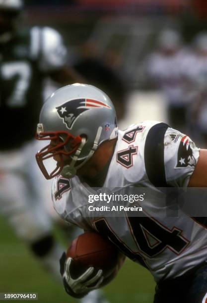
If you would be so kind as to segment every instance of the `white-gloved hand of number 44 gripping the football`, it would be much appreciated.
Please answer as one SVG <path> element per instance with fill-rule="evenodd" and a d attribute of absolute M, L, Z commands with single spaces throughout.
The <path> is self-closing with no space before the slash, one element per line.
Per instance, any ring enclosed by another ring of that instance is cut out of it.
<path fill-rule="evenodd" d="M 74 298 L 82 298 L 90 291 L 97 289 L 103 282 L 103 270 L 88 267 L 79 276 L 71 274 L 73 259 L 63 253 L 60 258 L 60 271 L 66 292 Z"/>

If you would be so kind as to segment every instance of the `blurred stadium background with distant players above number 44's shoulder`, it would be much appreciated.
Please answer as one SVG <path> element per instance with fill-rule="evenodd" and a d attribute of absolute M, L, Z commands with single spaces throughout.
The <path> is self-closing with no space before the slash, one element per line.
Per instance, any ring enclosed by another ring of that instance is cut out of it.
<path fill-rule="evenodd" d="M 25 8 L 27 26 L 62 34 L 67 63 L 117 103 L 121 128 L 158 119 L 207 145 L 204 0 L 30 0 Z"/>

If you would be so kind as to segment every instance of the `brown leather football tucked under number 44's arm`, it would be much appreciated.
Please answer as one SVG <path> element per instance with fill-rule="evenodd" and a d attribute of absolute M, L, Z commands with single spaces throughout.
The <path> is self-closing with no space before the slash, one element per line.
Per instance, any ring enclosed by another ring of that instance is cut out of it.
<path fill-rule="evenodd" d="M 105 277 L 114 271 L 118 254 L 115 245 L 95 232 L 85 232 L 75 238 L 67 251 L 67 257 L 74 260 L 75 273 L 88 266 L 94 266 L 102 269 Z"/>

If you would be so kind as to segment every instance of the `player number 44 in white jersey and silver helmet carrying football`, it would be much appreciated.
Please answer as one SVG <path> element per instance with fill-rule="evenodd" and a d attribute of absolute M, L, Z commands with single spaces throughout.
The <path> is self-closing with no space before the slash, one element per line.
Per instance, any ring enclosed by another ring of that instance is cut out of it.
<path fill-rule="evenodd" d="M 150 270 L 157 282 L 154 303 L 203 303 L 207 298 L 207 230 L 187 214 L 163 216 L 163 203 L 146 199 L 142 216 L 91 215 L 88 195 L 96 188 L 206 187 L 207 150 L 165 123 L 144 121 L 117 128 L 109 97 L 84 84 L 65 86 L 51 95 L 40 113 L 36 138 L 48 140 L 37 152 L 46 179 L 54 178 L 54 207 L 67 222 L 106 236 L 123 253 L 111 276 L 90 266 L 79 276 L 73 260 L 60 260 L 64 287 L 81 298 L 113 279 L 125 256 Z M 48 171 L 45 161 L 57 166 Z M 93 206 L 100 206 L 94 201 Z M 139 202 L 140 203 L 140 202 Z M 145 211 L 145 209 L 147 211 Z M 154 215 L 156 213 L 156 216 Z"/>

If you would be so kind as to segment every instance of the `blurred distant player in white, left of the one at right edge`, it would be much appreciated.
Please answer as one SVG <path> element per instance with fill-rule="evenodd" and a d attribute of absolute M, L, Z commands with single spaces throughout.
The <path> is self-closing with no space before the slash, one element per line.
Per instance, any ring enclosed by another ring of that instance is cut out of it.
<path fill-rule="evenodd" d="M 158 36 L 156 50 L 146 60 L 148 79 L 162 91 L 166 100 L 170 125 L 182 131 L 186 130 L 190 102 L 183 75 L 188 57 L 189 51 L 184 48 L 179 32 L 165 29 Z"/>

